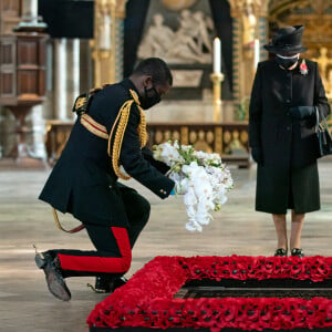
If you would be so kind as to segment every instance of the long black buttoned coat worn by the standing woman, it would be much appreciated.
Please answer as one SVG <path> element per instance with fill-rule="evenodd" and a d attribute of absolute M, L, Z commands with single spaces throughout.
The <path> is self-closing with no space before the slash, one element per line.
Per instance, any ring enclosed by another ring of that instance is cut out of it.
<path fill-rule="evenodd" d="M 300 214 L 320 208 L 315 117 L 299 121 L 289 113 L 292 106 L 312 105 L 318 106 L 320 116 L 330 113 L 318 64 L 305 62 L 305 75 L 299 65 L 286 71 L 273 59 L 257 69 L 249 106 L 249 145 L 262 151 L 256 196 L 260 211 L 286 214 L 292 207 Z"/>

